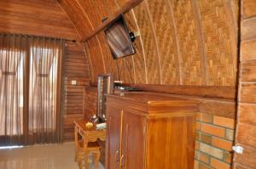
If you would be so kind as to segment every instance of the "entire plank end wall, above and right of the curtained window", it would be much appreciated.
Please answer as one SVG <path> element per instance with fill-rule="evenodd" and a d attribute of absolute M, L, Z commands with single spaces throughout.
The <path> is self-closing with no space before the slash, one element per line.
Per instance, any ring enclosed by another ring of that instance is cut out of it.
<path fill-rule="evenodd" d="M 1 0 L 0 31 L 79 40 L 79 33 L 55 0 Z M 89 65 L 81 44 L 67 42 L 62 75 L 63 141 L 73 140 L 73 120 L 84 118 Z M 71 81 L 77 81 L 76 86 Z"/>

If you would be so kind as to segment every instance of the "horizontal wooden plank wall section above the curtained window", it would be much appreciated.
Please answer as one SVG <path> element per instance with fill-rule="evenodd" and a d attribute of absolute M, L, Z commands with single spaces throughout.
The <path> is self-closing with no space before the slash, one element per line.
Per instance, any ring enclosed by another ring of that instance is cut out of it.
<path fill-rule="evenodd" d="M 73 23 L 55 0 L 1 0 L 0 31 L 79 39 Z"/>

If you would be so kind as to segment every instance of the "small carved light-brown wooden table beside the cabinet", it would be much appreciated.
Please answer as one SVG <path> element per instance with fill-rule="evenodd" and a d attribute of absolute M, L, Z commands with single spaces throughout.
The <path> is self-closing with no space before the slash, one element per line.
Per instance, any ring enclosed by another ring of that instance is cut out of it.
<path fill-rule="evenodd" d="M 95 123 L 93 124 L 93 127 L 87 128 L 85 126 L 86 122 L 88 122 L 88 120 L 74 121 L 76 151 L 79 149 L 79 138 L 78 137 L 80 135 L 83 139 L 83 144 L 84 144 L 84 156 L 88 155 L 88 150 L 90 150 L 90 149 L 88 149 L 88 143 L 96 142 L 97 139 L 101 139 L 102 141 L 106 140 L 106 129 L 97 130 Z M 77 152 L 76 152 L 76 155 L 77 155 Z M 76 160 L 77 160 L 77 156 L 76 156 Z M 88 165 L 87 158 L 84 158 L 84 163 L 86 166 Z"/>

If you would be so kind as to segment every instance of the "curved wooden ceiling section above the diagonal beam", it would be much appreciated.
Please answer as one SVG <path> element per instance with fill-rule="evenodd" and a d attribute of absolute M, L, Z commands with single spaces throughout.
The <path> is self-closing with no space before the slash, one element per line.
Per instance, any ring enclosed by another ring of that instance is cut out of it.
<path fill-rule="evenodd" d="M 119 5 L 125 3 L 115 0 L 58 0 L 58 2 L 73 21 L 81 38 L 100 25 L 102 19 L 113 14 Z"/>

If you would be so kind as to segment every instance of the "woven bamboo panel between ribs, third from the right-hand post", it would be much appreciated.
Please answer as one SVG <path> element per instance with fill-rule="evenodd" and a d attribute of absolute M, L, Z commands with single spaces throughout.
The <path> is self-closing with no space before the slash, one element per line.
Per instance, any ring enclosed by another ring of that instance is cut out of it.
<path fill-rule="evenodd" d="M 160 65 L 163 84 L 178 84 L 177 48 L 172 35 L 171 14 L 167 14 L 165 0 L 148 0 L 149 12 L 160 50 Z M 169 11 L 170 12 L 170 11 Z"/>

